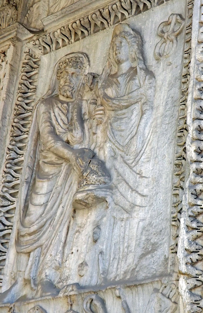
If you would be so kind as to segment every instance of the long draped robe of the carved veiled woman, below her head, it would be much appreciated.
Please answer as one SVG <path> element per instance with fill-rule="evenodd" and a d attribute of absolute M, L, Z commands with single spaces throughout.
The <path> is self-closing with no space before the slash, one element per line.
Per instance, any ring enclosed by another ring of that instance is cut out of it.
<path fill-rule="evenodd" d="M 141 82 L 137 68 L 131 67 L 119 79 L 109 75 L 98 92 L 105 117 L 95 151 L 105 161 L 113 186 L 103 248 L 108 281 L 135 279 L 140 255 L 147 255 L 138 237 L 150 204 L 151 179 L 145 165 L 150 157 L 154 85 L 147 70 Z"/>

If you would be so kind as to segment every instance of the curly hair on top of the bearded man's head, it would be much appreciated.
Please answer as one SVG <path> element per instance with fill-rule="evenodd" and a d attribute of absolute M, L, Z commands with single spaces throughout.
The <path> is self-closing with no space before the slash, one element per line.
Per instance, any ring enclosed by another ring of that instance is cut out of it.
<path fill-rule="evenodd" d="M 57 70 L 57 78 L 60 79 L 62 72 L 65 70 L 66 67 L 81 69 L 83 73 L 85 70 L 85 63 L 82 57 L 74 56 L 71 58 L 65 59 L 63 62 L 60 62 L 58 70 Z"/>

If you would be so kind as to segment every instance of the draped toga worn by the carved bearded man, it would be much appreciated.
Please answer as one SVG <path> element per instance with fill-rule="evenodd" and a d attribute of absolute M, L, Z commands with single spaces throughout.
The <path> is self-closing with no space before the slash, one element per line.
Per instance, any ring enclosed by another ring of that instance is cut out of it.
<path fill-rule="evenodd" d="M 40 279 L 45 275 L 56 283 L 60 276 L 78 175 L 72 165 L 51 152 L 51 148 L 60 142 L 73 146 L 77 140 L 72 134 L 72 117 L 67 103 L 51 97 L 42 100 L 34 118 L 39 137 L 25 200 L 23 191 L 21 194 L 17 251 L 31 252 L 25 276 L 31 281 L 33 279 L 34 284 L 37 284 L 37 276 Z"/>

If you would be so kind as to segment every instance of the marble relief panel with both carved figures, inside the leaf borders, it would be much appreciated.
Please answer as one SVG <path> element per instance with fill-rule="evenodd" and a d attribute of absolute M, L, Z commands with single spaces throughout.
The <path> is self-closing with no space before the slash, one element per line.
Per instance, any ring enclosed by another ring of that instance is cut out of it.
<path fill-rule="evenodd" d="M 165 8 L 41 56 L 1 302 L 171 274 L 186 5 Z M 176 287 L 160 288 L 147 293 L 142 312 L 175 312 Z M 94 312 L 94 301 L 111 312 L 92 297 L 84 312 Z M 116 297 L 132 311 L 122 289 Z"/>

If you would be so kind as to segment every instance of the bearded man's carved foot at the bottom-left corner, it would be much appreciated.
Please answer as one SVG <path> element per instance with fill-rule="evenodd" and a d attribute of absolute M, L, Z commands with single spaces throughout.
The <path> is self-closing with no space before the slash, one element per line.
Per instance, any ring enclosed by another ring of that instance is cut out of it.
<path fill-rule="evenodd" d="M 8 290 L 1 293 L 0 303 L 14 303 L 22 296 L 26 296 L 23 294 L 23 291 L 26 290 L 25 285 L 24 278 L 19 277 Z"/>

